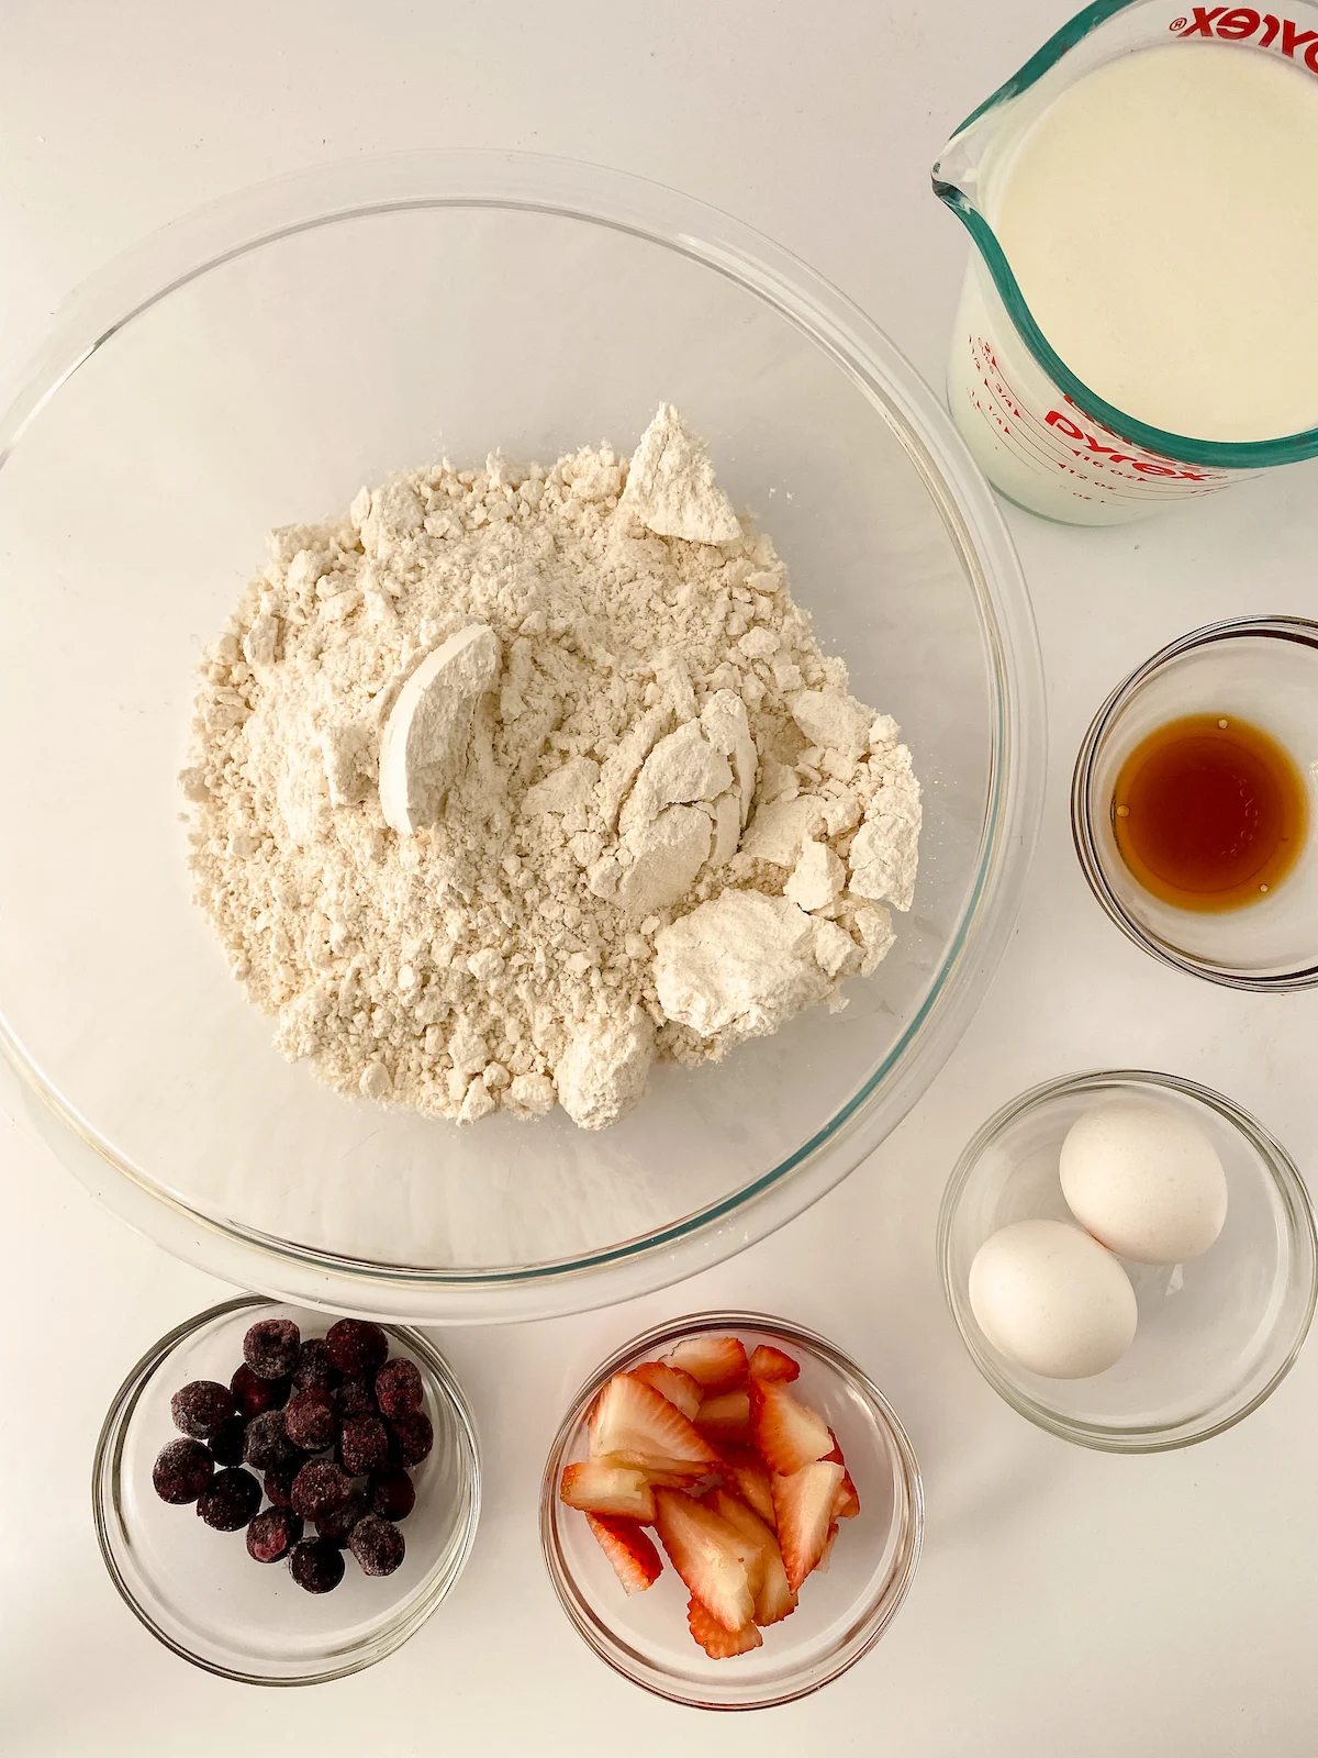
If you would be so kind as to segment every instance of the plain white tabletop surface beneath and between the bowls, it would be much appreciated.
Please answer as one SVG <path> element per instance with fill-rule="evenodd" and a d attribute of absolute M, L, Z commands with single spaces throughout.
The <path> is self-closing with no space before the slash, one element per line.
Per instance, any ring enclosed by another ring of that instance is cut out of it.
<path fill-rule="evenodd" d="M 928 167 L 1067 11 L 7 0 L 0 376 L 84 274 L 199 202 L 346 155 L 517 146 L 731 209 L 838 281 L 938 381 L 965 244 Z M 1302 469 L 1100 533 L 1009 515 L 1053 756 L 1019 928 L 979 1018 L 903 1127 L 777 1238 L 627 1308 L 441 1340 L 476 1408 L 487 1514 L 453 1598 L 364 1675 L 315 1691 L 227 1684 L 119 1603 L 88 1505 L 100 1419 L 132 1361 L 228 1290 L 100 1213 L 0 1074 L 4 1758 L 1313 1754 L 1314 1350 L 1206 1447 L 1081 1452 L 972 1369 L 940 1301 L 933 1222 L 979 1122 L 1077 1067 L 1220 1086 L 1314 1164 L 1318 995 L 1249 999 L 1156 967 L 1100 916 L 1067 828 L 1075 745 L 1132 665 L 1220 615 L 1318 615 L 1314 487 Z M 569 1391 L 643 1326 L 724 1303 L 778 1310 L 858 1355 L 903 1415 L 928 1489 L 924 1563 L 889 1635 L 824 1695 L 770 1716 L 701 1716 L 613 1677 L 562 1619 L 536 1542 L 543 1449 Z"/>

